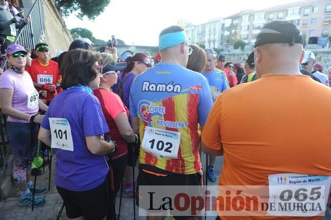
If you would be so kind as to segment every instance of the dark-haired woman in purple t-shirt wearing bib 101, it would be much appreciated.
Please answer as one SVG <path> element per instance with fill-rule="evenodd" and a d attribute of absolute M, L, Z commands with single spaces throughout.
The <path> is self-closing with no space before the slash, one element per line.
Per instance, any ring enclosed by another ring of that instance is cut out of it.
<path fill-rule="evenodd" d="M 108 207 L 107 154 L 115 145 L 101 136 L 109 132 L 92 89 L 100 84 L 100 53 L 69 50 L 61 61 L 64 89 L 52 99 L 39 139 L 56 148 L 55 185 L 68 218 L 101 220 Z"/>

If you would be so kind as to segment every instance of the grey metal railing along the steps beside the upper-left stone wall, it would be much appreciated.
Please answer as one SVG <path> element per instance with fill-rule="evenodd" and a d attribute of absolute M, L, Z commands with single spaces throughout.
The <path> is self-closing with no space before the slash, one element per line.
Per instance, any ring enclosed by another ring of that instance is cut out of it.
<path fill-rule="evenodd" d="M 41 0 L 36 0 L 27 16 L 30 17 L 30 22 L 18 32 L 14 44 L 32 49 L 40 42 L 45 30 L 44 6 Z M 6 64 L 7 59 L 4 60 L 1 68 L 6 69 Z"/>

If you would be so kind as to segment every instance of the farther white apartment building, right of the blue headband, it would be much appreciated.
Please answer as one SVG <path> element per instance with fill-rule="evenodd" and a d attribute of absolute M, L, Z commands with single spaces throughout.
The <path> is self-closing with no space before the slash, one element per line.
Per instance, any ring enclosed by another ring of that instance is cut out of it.
<path fill-rule="evenodd" d="M 186 34 L 193 44 L 205 48 L 224 48 L 224 19 L 216 18 L 203 24 L 185 26 Z"/>

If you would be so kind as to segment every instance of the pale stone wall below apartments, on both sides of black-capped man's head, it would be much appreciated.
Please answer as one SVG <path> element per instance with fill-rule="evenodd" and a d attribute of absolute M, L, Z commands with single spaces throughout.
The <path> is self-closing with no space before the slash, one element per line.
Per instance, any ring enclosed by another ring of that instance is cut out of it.
<path fill-rule="evenodd" d="M 317 64 L 321 64 L 324 67 L 324 72 L 331 67 L 331 50 L 311 50 L 316 56 Z M 240 62 L 245 64 L 245 58 L 249 55 L 248 52 L 233 52 L 233 53 L 224 53 L 227 60 L 234 62 Z"/>

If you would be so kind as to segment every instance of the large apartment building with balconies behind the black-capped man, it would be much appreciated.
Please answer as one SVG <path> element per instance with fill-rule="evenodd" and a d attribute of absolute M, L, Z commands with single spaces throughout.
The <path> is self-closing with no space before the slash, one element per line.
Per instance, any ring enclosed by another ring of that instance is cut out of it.
<path fill-rule="evenodd" d="M 224 45 L 231 48 L 241 39 L 253 45 L 262 26 L 273 20 L 292 21 L 306 41 L 331 35 L 331 0 L 305 0 L 263 10 L 246 10 L 225 18 Z"/>

